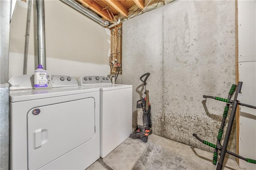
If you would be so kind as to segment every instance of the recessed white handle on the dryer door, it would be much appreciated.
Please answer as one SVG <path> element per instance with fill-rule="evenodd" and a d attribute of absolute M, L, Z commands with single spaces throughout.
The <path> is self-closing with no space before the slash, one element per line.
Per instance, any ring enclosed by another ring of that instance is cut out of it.
<path fill-rule="evenodd" d="M 41 128 L 34 130 L 33 140 L 34 149 L 40 148 L 42 144 L 48 142 L 48 130 Z"/>

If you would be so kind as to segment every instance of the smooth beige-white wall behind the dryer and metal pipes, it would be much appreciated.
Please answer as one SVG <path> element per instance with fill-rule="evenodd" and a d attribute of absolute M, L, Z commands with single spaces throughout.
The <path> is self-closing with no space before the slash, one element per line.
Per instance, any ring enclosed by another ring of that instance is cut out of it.
<path fill-rule="evenodd" d="M 106 76 L 110 31 L 58 0 L 45 0 L 46 65 L 51 74 Z M 33 5 L 32 5 L 33 7 Z M 28 3 L 17 1 L 10 23 L 9 78 L 23 73 Z M 34 73 L 33 9 L 27 74 Z"/>

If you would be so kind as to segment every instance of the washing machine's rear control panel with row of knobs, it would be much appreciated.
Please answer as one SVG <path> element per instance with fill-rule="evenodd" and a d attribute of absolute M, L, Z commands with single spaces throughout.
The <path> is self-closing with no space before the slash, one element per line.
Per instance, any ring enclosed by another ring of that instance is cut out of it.
<path fill-rule="evenodd" d="M 78 85 L 98 85 L 98 84 L 111 84 L 108 77 L 104 76 L 83 76 L 78 79 Z"/>

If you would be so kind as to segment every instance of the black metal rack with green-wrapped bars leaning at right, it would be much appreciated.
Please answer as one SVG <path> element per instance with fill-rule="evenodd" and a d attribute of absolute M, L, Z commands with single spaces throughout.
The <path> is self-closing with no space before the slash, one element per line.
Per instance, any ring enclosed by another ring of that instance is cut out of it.
<path fill-rule="evenodd" d="M 202 143 L 204 143 L 208 146 L 211 146 L 212 148 L 215 148 L 214 153 L 213 153 L 212 163 L 214 165 L 216 165 L 216 170 L 222 170 L 222 166 L 223 166 L 223 162 L 224 162 L 224 158 L 225 158 L 226 153 L 228 153 L 230 155 L 233 155 L 233 156 L 236 156 L 237 158 L 240 158 L 242 160 L 245 160 L 246 162 L 256 164 L 256 160 L 249 159 L 249 158 L 244 158 L 244 157 L 242 157 L 238 154 L 235 154 L 235 153 L 230 152 L 230 151 L 227 150 L 228 140 L 229 140 L 229 137 L 230 137 L 230 132 L 231 132 L 231 129 L 232 129 L 234 117 L 236 115 L 237 105 L 246 106 L 246 107 L 256 109 L 255 106 L 247 105 L 247 104 L 239 102 L 239 101 L 241 101 L 241 97 L 242 97 L 242 94 L 241 94 L 242 84 L 243 83 L 239 81 L 237 86 L 235 84 L 232 85 L 232 87 L 231 87 L 231 89 L 228 93 L 228 99 L 224 99 L 224 98 L 221 98 L 221 97 L 214 97 L 214 96 L 206 96 L 206 95 L 203 96 L 204 98 L 211 98 L 211 99 L 215 99 L 215 100 L 218 100 L 218 101 L 226 102 L 226 106 L 224 108 L 224 113 L 223 113 L 223 117 L 222 117 L 220 130 L 218 132 L 216 144 L 212 144 L 212 143 L 210 143 L 206 140 L 202 140 L 197 136 L 197 134 L 193 133 L 193 136 L 196 137 L 200 142 L 202 142 Z M 236 93 L 234 94 L 235 91 L 236 91 Z M 231 97 L 232 97 L 233 94 L 234 94 L 234 100 L 231 100 Z M 226 118 L 228 116 L 228 110 L 229 110 L 230 105 L 232 105 L 232 111 L 230 113 L 228 127 L 226 129 L 226 134 L 225 134 L 223 145 L 222 145 L 220 143 L 220 140 L 222 139 L 224 126 L 226 125 Z M 218 160 L 218 151 L 220 151 L 219 160 Z"/>

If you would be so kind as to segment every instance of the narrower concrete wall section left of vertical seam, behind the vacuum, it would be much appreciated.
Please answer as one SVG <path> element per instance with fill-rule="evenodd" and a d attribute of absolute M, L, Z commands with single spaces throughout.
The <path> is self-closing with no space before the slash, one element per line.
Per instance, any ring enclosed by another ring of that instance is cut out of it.
<path fill-rule="evenodd" d="M 149 72 L 147 80 L 152 108 L 153 131 L 162 131 L 163 73 L 163 8 L 137 16 L 123 23 L 122 84 L 133 85 L 133 126 L 136 126 L 136 102 L 142 97 L 140 76 Z"/>

